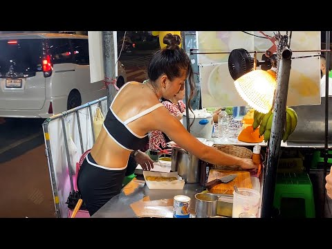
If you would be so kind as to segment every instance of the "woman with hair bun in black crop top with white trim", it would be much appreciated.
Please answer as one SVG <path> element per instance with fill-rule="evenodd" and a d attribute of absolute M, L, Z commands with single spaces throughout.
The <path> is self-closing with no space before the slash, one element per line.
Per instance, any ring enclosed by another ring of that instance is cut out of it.
<path fill-rule="evenodd" d="M 102 130 L 80 167 L 77 187 L 90 215 L 120 193 L 129 156 L 135 156 L 136 150 L 147 144 L 147 133 L 152 130 L 163 131 L 178 146 L 208 163 L 256 168 L 251 159 L 230 156 L 199 142 L 159 102 L 160 98 L 169 99 L 183 91 L 187 78 L 190 99 L 194 93 L 190 59 L 178 46 L 181 38 L 168 34 L 164 43 L 167 46 L 149 62 L 149 82 L 127 82 L 118 91 Z M 145 170 L 151 167 L 141 166 Z"/>

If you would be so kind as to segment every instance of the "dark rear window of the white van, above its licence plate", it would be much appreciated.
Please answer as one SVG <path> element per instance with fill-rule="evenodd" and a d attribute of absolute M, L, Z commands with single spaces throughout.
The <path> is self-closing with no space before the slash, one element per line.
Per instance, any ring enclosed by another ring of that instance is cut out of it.
<path fill-rule="evenodd" d="M 0 40 L 0 77 L 28 77 L 42 71 L 42 40 Z"/>

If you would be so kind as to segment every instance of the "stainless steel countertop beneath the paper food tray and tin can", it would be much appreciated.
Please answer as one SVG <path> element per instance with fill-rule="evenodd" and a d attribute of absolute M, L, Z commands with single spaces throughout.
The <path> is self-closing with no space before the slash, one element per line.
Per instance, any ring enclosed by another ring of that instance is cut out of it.
<path fill-rule="evenodd" d="M 190 196 L 190 214 L 195 214 L 195 194 L 202 192 L 199 183 L 185 183 L 183 190 L 149 190 L 145 181 L 133 179 L 107 202 L 92 218 L 173 217 L 173 197 Z"/>

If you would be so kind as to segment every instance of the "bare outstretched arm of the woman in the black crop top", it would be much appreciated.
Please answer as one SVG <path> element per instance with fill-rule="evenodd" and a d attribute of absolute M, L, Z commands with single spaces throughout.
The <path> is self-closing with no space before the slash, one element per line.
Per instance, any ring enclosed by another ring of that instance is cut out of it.
<path fill-rule="evenodd" d="M 204 145 L 192 136 L 174 116 L 167 113 L 167 109 L 160 109 L 158 117 L 156 119 L 158 129 L 166 133 L 178 146 L 201 160 L 212 164 L 238 165 L 243 169 L 257 169 L 257 165 L 252 163 L 251 159 L 225 154 L 219 149 Z"/>

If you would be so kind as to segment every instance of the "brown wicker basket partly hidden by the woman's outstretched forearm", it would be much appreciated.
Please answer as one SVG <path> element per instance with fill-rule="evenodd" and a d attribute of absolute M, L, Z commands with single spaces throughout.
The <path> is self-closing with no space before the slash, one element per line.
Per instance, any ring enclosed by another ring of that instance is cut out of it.
<path fill-rule="evenodd" d="M 252 158 L 252 151 L 245 147 L 239 147 L 236 145 L 213 145 L 212 147 L 239 158 Z M 242 170 L 242 168 L 237 165 L 213 165 L 212 169 Z"/>

